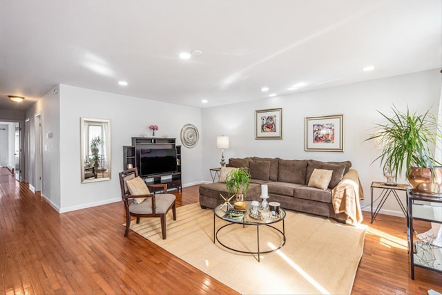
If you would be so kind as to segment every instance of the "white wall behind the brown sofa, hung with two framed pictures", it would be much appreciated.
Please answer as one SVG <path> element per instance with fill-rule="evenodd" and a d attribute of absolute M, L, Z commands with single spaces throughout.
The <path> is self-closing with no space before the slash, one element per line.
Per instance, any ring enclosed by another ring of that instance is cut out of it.
<path fill-rule="evenodd" d="M 372 142 L 364 142 L 374 123 L 382 122 L 376 110 L 391 113 L 392 105 L 399 110 L 418 113 L 432 107 L 436 114 L 441 95 L 439 69 L 412 73 L 385 79 L 376 79 L 318 91 L 294 93 L 254 102 L 231 104 L 202 110 L 203 153 L 202 175 L 210 181 L 209 169 L 220 166 L 221 151 L 216 149 L 216 136 L 229 135 L 231 148 L 224 150 L 225 158 L 246 156 L 280 157 L 285 159 L 315 159 L 323 161 L 351 160 L 358 170 L 369 210 L 370 184 L 385 181 L 379 163 L 371 162 L 379 151 Z M 256 110 L 282 108 L 282 140 L 255 140 L 254 116 Z M 344 115 L 344 152 L 304 151 L 305 117 Z M 398 182 L 406 183 L 405 178 Z M 405 203 L 405 193 L 399 193 Z M 394 198 L 389 198 L 382 213 L 403 216 Z"/>

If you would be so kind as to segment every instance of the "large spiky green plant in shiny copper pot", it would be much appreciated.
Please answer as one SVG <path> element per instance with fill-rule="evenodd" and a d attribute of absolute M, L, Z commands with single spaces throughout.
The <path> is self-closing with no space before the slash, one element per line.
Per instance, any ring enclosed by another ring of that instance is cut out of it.
<path fill-rule="evenodd" d="M 403 175 L 407 178 L 414 191 L 442 196 L 442 167 L 434 157 L 437 153 L 436 141 L 442 138 L 441 126 L 437 118 L 429 111 L 421 115 L 406 113 L 392 107 L 393 115 L 389 117 L 380 113 L 385 122 L 376 124 L 376 133 L 367 140 L 376 140 L 381 146 L 381 155 L 376 160 L 381 161 L 383 171 L 397 180 Z"/>

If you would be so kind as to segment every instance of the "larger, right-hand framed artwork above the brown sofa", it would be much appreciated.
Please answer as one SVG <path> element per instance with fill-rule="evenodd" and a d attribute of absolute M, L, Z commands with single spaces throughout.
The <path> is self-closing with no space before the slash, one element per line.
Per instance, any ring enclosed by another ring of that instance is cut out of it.
<path fill-rule="evenodd" d="M 344 151 L 344 115 L 305 118 L 305 151 Z"/>

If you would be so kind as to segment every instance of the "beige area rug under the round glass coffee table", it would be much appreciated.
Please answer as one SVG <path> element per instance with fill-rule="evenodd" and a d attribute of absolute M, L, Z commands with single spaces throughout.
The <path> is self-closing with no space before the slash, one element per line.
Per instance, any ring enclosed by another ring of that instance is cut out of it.
<path fill-rule="evenodd" d="M 218 229 L 226 224 L 215 219 Z M 282 222 L 275 224 L 282 230 Z M 282 249 L 240 254 L 213 244 L 213 210 L 199 204 L 177 208 L 177 220 L 168 214 L 167 239 L 162 240 L 159 218 L 142 218 L 131 229 L 241 294 L 350 294 L 363 254 L 365 227 L 287 211 Z M 280 234 L 260 226 L 261 251 L 280 245 Z M 220 240 L 238 249 L 256 251 L 256 227 L 231 225 Z"/>

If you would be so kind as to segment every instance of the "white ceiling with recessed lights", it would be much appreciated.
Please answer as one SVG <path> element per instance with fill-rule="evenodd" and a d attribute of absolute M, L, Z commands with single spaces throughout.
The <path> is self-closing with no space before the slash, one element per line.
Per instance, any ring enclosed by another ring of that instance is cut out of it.
<path fill-rule="evenodd" d="M 0 0 L 0 108 L 57 84 L 204 108 L 441 68 L 441 56 L 442 0 Z"/>

